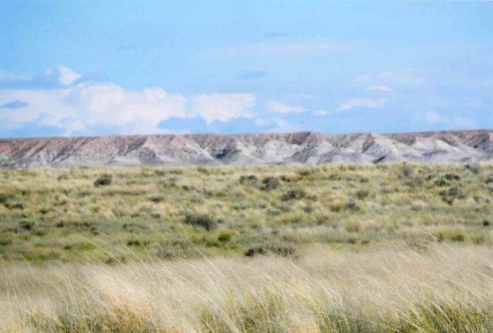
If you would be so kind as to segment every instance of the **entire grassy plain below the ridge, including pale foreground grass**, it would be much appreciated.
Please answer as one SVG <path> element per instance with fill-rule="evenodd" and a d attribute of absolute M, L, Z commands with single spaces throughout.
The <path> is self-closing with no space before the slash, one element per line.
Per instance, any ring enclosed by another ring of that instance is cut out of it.
<path fill-rule="evenodd" d="M 492 164 L 1 171 L 0 328 L 492 332 L 492 201 Z"/>

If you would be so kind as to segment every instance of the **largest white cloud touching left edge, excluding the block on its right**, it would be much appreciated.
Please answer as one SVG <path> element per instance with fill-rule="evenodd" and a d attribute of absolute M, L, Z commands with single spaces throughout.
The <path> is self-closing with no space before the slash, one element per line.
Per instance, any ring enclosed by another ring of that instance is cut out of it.
<path fill-rule="evenodd" d="M 186 116 L 186 99 L 160 88 L 129 90 L 114 84 L 79 84 L 49 90 L 0 90 L 6 98 L 28 101 L 23 112 L 1 114 L 21 126 L 27 122 L 62 127 L 66 135 L 90 126 L 115 128 L 121 134 L 151 134 L 170 116 Z M 135 128 L 134 128 L 135 127 Z"/>

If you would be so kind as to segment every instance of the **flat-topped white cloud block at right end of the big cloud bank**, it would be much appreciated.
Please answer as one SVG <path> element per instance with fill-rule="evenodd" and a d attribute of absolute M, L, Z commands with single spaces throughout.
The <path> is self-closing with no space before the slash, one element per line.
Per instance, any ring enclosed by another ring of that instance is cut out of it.
<path fill-rule="evenodd" d="M 229 121 L 244 116 L 252 118 L 255 114 L 255 96 L 251 94 L 210 94 L 192 97 L 192 112 L 202 116 L 207 123 L 214 120 Z"/>

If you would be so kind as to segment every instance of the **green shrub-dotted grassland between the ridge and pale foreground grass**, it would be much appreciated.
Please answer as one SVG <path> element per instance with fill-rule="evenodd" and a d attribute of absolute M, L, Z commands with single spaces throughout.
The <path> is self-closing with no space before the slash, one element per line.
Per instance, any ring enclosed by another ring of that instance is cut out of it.
<path fill-rule="evenodd" d="M 492 243 L 492 164 L 39 169 L 0 184 L 8 262 Z"/>

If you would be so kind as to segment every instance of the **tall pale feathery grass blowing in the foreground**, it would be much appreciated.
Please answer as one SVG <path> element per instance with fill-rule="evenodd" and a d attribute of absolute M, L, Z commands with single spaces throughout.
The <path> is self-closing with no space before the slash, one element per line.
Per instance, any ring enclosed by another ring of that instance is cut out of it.
<path fill-rule="evenodd" d="M 489 247 L 2 264 L 1 332 L 493 332 Z"/>

